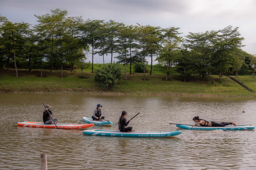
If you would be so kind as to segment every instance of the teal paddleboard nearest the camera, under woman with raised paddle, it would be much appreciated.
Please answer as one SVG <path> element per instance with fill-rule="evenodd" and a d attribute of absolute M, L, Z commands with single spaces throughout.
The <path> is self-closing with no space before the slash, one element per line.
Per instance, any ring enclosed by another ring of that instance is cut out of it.
<path fill-rule="evenodd" d="M 148 132 L 148 131 L 133 131 L 133 132 L 120 132 L 118 130 L 95 130 L 86 129 L 83 131 L 84 135 L 93 136 L 113 136 L 113 137 L 172 137 L 181 134 L 181 131 L 172 132 Z"/>

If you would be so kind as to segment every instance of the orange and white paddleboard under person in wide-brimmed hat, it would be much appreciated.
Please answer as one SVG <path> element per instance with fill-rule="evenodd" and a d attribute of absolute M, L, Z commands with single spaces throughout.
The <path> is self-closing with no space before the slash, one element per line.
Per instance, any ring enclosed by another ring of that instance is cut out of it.
<path fill-rule="evenodd" d="M 34 127 L 34 128 L 56 128 L 55 124 L 44 124 L 42 122 L 18 122 L 17 125 L 23 126 L 23 127 Z M 56 125 L 59 129 L 86 129 L 94 126 L 93 123 L 91 124 L 56 123 Z"/>

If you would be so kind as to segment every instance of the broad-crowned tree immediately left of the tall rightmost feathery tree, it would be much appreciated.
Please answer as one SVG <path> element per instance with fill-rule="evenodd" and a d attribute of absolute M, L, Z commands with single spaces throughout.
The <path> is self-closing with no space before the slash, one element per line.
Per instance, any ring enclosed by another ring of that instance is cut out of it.
<path fill-rule="evenodd" d="M 213 39 L 216 37 L 217 31 L 206 31 L 205 33 L 191 33 L 185 36 L 184 47 L 193 50 L 195 70 L 198 70 L 199 75 L 203 80 L 207 76 L 207 72 L 211 72 L 212 55 L 213 55 Z"/>

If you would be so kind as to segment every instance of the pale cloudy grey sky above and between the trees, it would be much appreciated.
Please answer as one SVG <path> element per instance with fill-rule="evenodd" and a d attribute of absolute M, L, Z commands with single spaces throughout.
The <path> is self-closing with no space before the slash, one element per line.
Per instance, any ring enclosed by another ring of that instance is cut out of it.
<path fill-rule="evenodd" d="M 37 24 L 34 15 L 41 16 L 56 8 L 67 10 L 68 16 L 83 16 L 84 20 L 111 19 L 126 25 L 180 27 L 182 36 L 188 32 L 238 26 L 241 37 L 245 38 L 243 45 L 246 46 L 242 49 L 256 54 L 255 0 L 0 0 L 2 16 L 12 22 L 32 25 Z M 104 57 L 105 62 L 110 62 L 110 57 Z M 87 58 L 92 61 L 91 55 Z M 97 62 L 103 63 L 101 56 L 94 57 L 94 63 Z"/>

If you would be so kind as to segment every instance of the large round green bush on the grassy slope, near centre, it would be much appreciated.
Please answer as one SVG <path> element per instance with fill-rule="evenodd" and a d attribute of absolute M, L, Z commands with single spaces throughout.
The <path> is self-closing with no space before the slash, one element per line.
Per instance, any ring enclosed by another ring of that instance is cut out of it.
<path fill-rule="evenodd" d="M 93 80 L 99 83 L 101 88 L 111 89 L 117 84 L 118 80 L 122 78 L 122 74 L 123 71 L 119 64 L 107 64 L 95 70 Z"/>

